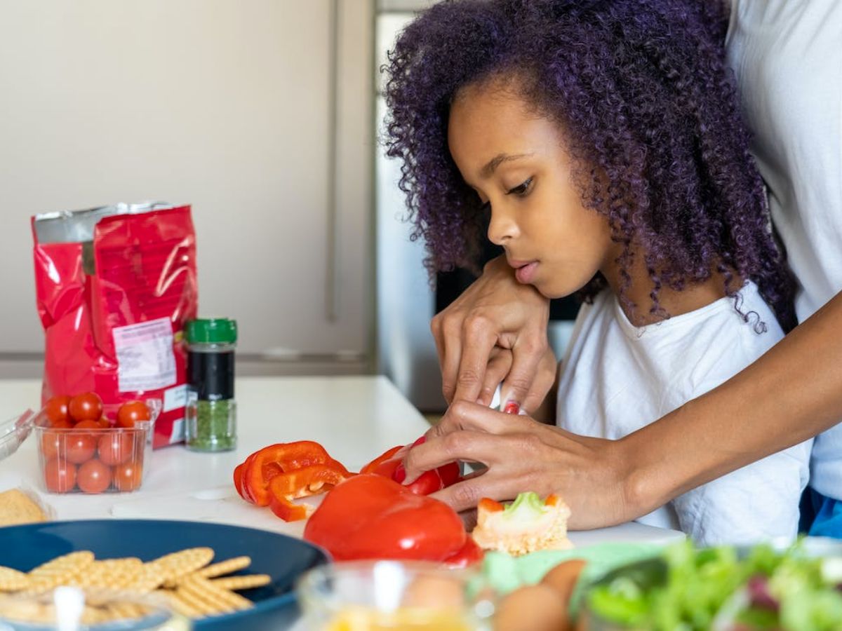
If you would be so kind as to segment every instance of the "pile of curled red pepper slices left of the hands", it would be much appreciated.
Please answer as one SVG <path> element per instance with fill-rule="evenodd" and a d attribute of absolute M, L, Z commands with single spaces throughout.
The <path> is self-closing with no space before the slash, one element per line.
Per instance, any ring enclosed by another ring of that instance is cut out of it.
<path fill-rule="evenodd" d="M 301 440 L 252 453 L 234 469 L 234 486 L 242 499 L 269 506 L 281 519 L 295 522 L 306 518 L 312 507 L 292 500 L 324 493 L 352 475 L 322 445 Z"/>

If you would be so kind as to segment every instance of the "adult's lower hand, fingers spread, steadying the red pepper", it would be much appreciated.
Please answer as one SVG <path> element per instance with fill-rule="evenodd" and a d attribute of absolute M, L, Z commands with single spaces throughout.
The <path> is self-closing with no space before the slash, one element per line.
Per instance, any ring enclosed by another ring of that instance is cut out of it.
<path fill-rule="evenodd" d="M 626 458 L 621 441 L 576 436 L 557 427 L 456 401 L 427 440 L 412 448 L 403 465 L 406 482 L 453 460 L 488 469 L 434 497 L 456 511 L 477 507 L 482 497 L 505 501 L 534 490 L 556 493 L 571 507 L 570 526 L 598 528 L 637 517 L 624 484 Z"/>

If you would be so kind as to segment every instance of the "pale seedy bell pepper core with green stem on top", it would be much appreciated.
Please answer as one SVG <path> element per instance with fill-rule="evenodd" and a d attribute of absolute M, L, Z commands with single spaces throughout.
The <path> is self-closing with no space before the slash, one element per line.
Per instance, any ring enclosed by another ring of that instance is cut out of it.
<path fill-rule="evenodd" d="M 536 550 L 568 549 L 570 509 L 558 496 L 541 500 L 535 492 L 520 493 L 509 504 L 483 497 L 477 506 L 473 538 L 483 549 L 513 556 Z"/>

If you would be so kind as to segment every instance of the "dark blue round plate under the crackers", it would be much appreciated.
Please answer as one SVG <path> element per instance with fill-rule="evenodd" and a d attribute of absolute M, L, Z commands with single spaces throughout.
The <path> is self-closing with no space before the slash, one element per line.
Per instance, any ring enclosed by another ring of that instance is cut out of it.
<path fill-rule="evenodd" d="M 149 561 L 196 546 L 214 549 L 216 560 L 246 554 L 252 558 L 252 565 L 237 574 L 272 577 L 267 586 L 242 591 L 254 602 L 253 608 L 195 623 L 195 628 L 208 631 L 290 626 L 298 615 L 292 591 L 296 579 L 302 572 L 328 562 L 321 549 L 306 541 L 266 530 L 207 522 L 96 519 L 0 528 L 0 565 L 28 571 L 74 550 L 90 550 L 97 559 L 136 556 Z"/>

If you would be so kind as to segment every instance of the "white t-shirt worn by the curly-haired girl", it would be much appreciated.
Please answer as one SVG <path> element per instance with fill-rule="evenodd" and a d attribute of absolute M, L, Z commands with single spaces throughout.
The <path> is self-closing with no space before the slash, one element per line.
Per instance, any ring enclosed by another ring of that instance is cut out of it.
<path fill-rule="evenodd" d="M 558 386 L 557 423 L 584 436 L 617 439 L 703 395 L 783 337 L 753 283 L 734 299 L 649 326 L 633 326 L 605 290 L 579 310 Z M 765 323 L 765 332 L 757 332 Z M 740 419 L 733 418 L 734 427 Z M 718 437 L 711 436 L 711 445 Z M 638 519 L 679 528 L 700 544 L 750 544 L 797 533 L 810 443 L 799 444 L 690 490 Z M 698 445 L 701 450 L 706 444 Z"/>

